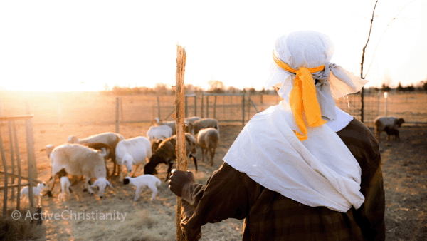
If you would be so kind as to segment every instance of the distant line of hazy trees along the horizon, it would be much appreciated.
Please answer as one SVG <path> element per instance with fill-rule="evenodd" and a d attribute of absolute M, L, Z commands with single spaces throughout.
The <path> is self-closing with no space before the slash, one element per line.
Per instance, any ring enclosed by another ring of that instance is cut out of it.
<path fill-rule="evenodd" d="M 184 93 L 185 94 L 193 94 L 193 93 L 249 93 L 251 95 L 256 94 L 268 94 L 268 93 L 275 93 L 274 90 L 261 90 L 257 91 L 255 88 L 243 88 L 239 89 L 233 86 L 225 87 L 221 81 L 209 81 L 210 88 L 208 90 L 205 90 L 201 88 L 200 86 L 194 86 L 192 84 L 186 84 L 184 85 Z M 410 85 L 410 86 L 401 86 L 401 83 L 396 88 L 391 88 L 389 85 L 383 83 L 381 88 L 365 88 L 366 91 L 369 92 L 376 92 L 376 91 L 394 91 L 394 92 L 411 92 L 411 91 L 418 91 L 418 92 L 424 92 L 427 91 L 427 79 L 426 81 L 421 81 L 416 86 Z M 114 86 L 112 89 L 108 88 L 107 85 L 105 85 L 105 90 L 101 91 L 101 93 L 104 93 L 106 95 L 114 95 L 114 96 L 127 96 L 127 95 L 139 95 L 139 94 L 156 94 L 156 95 L 174 95 L 175 94 L 175 88 L 174 86 L 169 86 L 164 83 L 157 83 L 154 88 L 149 87 L 120 87 L 120 86 Z"/>

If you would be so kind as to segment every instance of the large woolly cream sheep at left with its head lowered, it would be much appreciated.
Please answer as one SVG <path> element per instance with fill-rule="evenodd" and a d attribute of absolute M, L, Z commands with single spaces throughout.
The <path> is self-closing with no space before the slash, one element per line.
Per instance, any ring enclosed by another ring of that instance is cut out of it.
<path fill-rule="evenodd" d="M 96 186 L 99 188 L 98 196 L 104 196 L 105 188 L 111 187 L 110 182 L 105 178 L 107 168 L 105 168 L 104 156 L 107 153 L 104 150 L 94 150 L 80 144 L 63 144 L 54 148 L 51 153 L 52 177 L 48 182 L 48 195 L 51 196 L 51 190 L 55 183 L 55 177 L 58 173 L 65 175 L 84 175 L 85 190 L 93 194 L 90 186 L 90 178 L 95 178 Z"/>

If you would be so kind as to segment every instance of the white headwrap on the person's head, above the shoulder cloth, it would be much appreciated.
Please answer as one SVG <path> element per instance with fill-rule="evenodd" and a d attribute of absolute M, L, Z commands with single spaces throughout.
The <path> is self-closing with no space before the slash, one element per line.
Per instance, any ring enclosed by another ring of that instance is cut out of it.
<path fill-rule="evenodd" d="M 329 120 L 337 120 L 334 98 L 356 93 L 368 82 L 330 62 L 334 54 L 334 44 L 325 34 L 298 31 L 281 36 L 275 43 L 274 52 L 290 68 L 316 68 L 325 65 L 324 70 L 312 73 L 312 76 L 318 81 L 316 94 L 320 111 L 322 116 Z M 280 87 L 279 95 L 289 103 L 294 79 L 295 73 L 285 71 L 273 62 L 270 76 L 265 81 L 265 89 L 271 86 Z"/>

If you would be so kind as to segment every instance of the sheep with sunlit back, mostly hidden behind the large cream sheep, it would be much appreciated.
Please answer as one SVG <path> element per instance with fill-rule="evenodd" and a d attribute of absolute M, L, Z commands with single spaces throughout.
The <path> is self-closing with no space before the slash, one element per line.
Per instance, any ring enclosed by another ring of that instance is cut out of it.
<path fill-rule="evenodd" d="M 110 145 L 112 150 L 112 158 L 111 161 L 113 163 L 112 168 L 112 175 L 115 175 L 116 168 L 117 173 L 120 173 L 120 167 L 117 165 L 117 162 L 115 160 L 115 148 L 117 143 L 119 143 L 120 140 L 125 140 L 123 135 L 120 135 L 119 133 L 112 133 L 112 132 L 105 132 L 100 133 L 96 135 L 90 135 L 88 138 L 78 139 L 75 138 L 75 136 L 70 135 L 68 137 L 68 143 L 78 143 L 78 144 L 87 144 L 87 143 L 105 143 L 107 145 Z"/>

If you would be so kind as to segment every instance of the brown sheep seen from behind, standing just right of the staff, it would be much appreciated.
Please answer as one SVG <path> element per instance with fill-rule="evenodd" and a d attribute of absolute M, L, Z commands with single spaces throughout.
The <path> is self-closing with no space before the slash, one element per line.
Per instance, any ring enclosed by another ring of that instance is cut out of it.
<path fill-rule="evenodd" d="M 211 165 L 214 165 L 214 155 L 218 146 L 219 132 L 215 128 L 205 128 L 199 131 L 197 135 L 197 145 L 201 148 L 201 161 L 204 161 L 204 155 L 211 154 Z M 207 159 L 207 156 L 206 156 Z"/>

